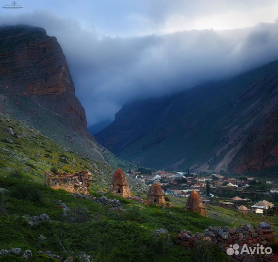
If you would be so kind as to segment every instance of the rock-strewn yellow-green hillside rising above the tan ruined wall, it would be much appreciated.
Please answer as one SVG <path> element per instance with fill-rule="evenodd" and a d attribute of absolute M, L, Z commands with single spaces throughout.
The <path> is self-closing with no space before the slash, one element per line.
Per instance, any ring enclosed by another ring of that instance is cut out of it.
<path fill-rule="evenodd" d="M 88 169 L 95 189 L 108 190 L 114 168 L 98 163 L 68 150 L 49 139 L 42 132 L 0 111 L 0 174 L 9 175 L 18 170 L 28 179 L 42 182 L 44 172 L 52 166 L 60 172 L 74 173 Z M 118 165 L 116 166 L 118 167 Z M 131 190 L 143 192 L 147 186 L 128 178 Z"/>

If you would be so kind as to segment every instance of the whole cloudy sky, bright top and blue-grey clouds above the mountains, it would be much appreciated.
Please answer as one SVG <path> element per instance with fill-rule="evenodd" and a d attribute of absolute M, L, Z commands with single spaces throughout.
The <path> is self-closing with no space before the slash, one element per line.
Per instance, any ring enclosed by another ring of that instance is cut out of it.
<path fill-rule="evenodd" d="M 1 5 L 11 4 L 1 0 Z M 134 98 L 230 78 L 278 59 L 277 0 L 18 0 L 0 25 L 60 43 L 88 124 Z"/>

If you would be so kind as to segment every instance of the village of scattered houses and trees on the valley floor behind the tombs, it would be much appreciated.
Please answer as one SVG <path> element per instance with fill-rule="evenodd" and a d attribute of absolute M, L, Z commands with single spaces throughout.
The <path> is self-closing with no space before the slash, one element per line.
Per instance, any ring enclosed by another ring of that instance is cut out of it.
<path fill-rule="evenodd" d="M 243 214 L 278 215 L 278 184 L 274 178 L 239 175 L 234 178 L 218 173 L 190 171 L 142 172 L 140 168 L 125 173 L 148 186 L 160 184 L 165 196 L 187 199 L 192 191 L 196 191 L 204 204 L 237 210 Z"/>

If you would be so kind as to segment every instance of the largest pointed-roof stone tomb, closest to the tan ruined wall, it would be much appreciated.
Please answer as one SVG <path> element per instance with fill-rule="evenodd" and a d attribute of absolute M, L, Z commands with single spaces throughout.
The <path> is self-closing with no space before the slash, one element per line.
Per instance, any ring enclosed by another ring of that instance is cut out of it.
<path fill-rule="evenodd" d="M 122 197 L 131 197 L 130 186 L 122 169 L 118 168 L 112 178 L 110 192 Z"/>

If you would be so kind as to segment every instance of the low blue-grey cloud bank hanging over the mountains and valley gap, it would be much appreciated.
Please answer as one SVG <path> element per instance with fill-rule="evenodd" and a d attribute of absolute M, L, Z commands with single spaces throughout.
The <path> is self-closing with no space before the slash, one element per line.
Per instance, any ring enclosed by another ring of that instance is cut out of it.
<path fill-rule="evenodd" d="M 252 28 L 109 37 L 47 12 L 2 16 L 0 24 L 44 27 L 67 58 L 89 124 L 133 98 L 160 96 L 231 77 L 278 58 L 277 23 Z"/>

